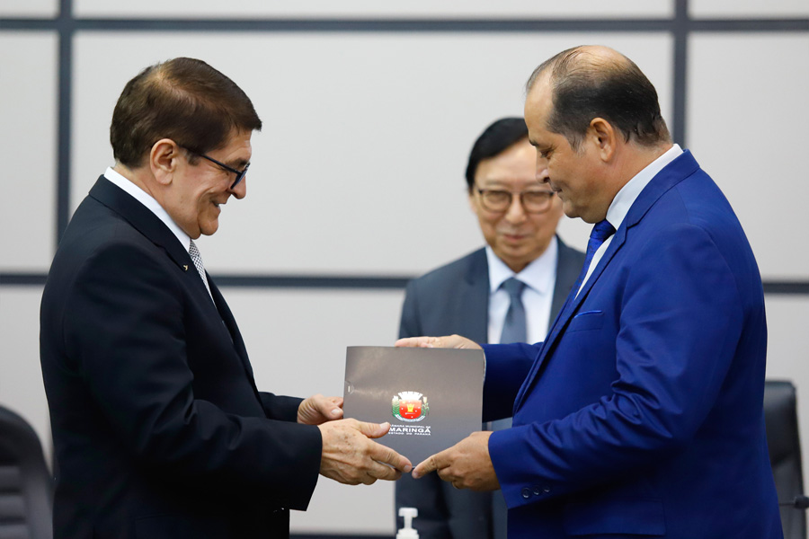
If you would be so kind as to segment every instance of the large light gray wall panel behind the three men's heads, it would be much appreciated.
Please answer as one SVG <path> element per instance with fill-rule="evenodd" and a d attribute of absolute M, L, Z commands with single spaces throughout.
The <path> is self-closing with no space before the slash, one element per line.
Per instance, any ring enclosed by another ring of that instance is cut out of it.
<path fill-rule="evenodd" d="M 231 200 L 218 234 L 200 242 L 207 267 L 422 272 L 481 243 L 463 180 L 477 135 L 497 117 L 521 115 L 523 84 L 542 59 L 591 41 L 635 57 L 670 113 L 664 33 L 81 32 L 71 204 L 111 163 L 109 121 L 124 82 L 158 59 L 202 57 L 244 87 L 265 121 L 253 137 L 248 197 Z M 582 245 L 587 232 L 571 228 Z"/>

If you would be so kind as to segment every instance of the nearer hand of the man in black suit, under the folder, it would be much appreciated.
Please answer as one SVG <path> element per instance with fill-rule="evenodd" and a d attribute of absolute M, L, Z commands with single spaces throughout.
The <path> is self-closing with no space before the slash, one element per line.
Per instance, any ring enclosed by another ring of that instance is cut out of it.
<path fill-rule="evenodd" d="M 399 479 L 403 472 L 413 469 L 404 456 L 369 439 L 385 436 L 390 423 L 340 420 L 317 428 L 323 436 L 320 473 L 324 477 L 349 485 L 369 485 L 378 479 Z"/>

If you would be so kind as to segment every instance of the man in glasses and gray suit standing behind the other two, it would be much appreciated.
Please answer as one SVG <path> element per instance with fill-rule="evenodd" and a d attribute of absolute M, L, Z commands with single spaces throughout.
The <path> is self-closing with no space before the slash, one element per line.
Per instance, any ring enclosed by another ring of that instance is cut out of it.
<path fill-rule="evenodd" d="M 478 137 L 467 164 L 467 192 L 488 245 L 410 282 L 400 338 L 457 333 L 481 343 L 499 343 L 503 335 L 508 340 L 511 302 L 503 287 L 516 278 L 524 283 L 520 338 L 545 339 L 582 270 L 584 253 L 556 236 L 562 203 L 538 181 L 536 160 L 521 118 L 499 119 Z M 405 475 L 396 482 L 400 507 L 419 509 L 422 539 L 506 536 L 499 491 L 456 490 L 436 474 L 419 481 Z"/>

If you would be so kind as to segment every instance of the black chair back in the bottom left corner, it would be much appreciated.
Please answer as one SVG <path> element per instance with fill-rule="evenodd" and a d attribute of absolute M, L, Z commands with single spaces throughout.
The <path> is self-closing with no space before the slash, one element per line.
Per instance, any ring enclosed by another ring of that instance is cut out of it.
<path fill-rule="evenodd" d="M 19 415 L 0 406 L 0 537 L 51 539 L 53 479 L 40 438 Z"/>

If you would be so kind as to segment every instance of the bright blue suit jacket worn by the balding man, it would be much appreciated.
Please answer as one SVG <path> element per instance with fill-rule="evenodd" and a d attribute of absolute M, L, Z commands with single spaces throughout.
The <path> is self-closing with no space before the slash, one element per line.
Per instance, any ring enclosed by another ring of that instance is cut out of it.
<path fill-rule="evenodd" d="M 781 537 L 759 270 L 686 152 L 641 192 L 537 345 L 485 346 L 511 537 Z M 532 358 L 529 372 L 525 359 Z"/>

